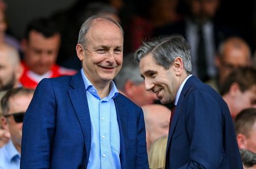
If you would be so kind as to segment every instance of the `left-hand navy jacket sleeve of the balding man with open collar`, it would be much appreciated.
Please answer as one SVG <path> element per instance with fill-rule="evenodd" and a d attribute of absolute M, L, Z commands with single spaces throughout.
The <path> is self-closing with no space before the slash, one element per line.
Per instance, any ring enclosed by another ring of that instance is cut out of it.
<path fill-rule="evenodd" d="M 55 135 L 55 95 L 49 79 L 43 79 L 25 113 L 20 168 L 50 168 Z"/>

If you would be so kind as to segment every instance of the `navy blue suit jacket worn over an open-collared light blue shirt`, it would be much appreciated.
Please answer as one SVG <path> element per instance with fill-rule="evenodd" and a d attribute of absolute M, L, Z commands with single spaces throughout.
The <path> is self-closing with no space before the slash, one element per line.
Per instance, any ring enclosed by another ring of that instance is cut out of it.
<path fill-rule="evenodd" d="M 121 167 L 148 168 L 143 111 L 125 96 L 114 98 Z M 86 168 L 91 125 L 81 72 L 43 79 L 23 121 L 20 168 Z"/>

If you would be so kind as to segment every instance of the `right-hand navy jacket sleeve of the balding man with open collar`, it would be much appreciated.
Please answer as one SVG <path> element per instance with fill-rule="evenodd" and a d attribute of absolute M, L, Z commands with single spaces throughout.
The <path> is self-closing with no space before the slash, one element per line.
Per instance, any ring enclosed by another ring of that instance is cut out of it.
<path fill-rule="evenodd" d="M 147 169 L 148 159 L 147 159 L 147 145 L 146 145 L 146 130 L 144 123 L 143 111 L 141 109 L 139 113 L 138 120 L 138 145 L 137 145 L 137 155 L 136 155 L 136 167 L 138 169 Z"/>

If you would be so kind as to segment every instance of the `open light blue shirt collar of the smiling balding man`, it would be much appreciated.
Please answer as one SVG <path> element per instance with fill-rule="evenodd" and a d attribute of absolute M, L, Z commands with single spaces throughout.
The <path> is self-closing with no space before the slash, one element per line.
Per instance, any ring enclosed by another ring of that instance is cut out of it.
<path fill-rule="evenodd" d="M 81 69 L 82 79 L 84 81 L 85 90 L 88 91 L 93 96 L 96 96 L 98 99 L 100 97 L 97 94 L 97 89 L 93 86 L 93 84 L 89 81 L 89 79 L 84 74 L 83 69 Z M 106 97 L 107 99 L 114 99 L 115 96 L 118 95 L 117 87 L 115 86 L 115 83 L 113 81 L 110 82 L 110 92 L 109 95 Z"/>

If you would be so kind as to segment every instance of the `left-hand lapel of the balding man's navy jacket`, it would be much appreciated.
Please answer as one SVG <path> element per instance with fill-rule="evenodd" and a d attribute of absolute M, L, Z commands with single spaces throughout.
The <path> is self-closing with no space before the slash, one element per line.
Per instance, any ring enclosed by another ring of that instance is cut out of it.
<path fill-rule="evenodd" d="M 88 162 L 91 143 L 90 113 L 81 72 L 77 73 L 72 77 L 70 85 L 72 88 L 68 91 L 68 94 L 71 98 L 71 102 L 73 104 L 77 118 L 79 119 L 82 128 L 82 134 L 85 141 L 86 158 Z"/>

